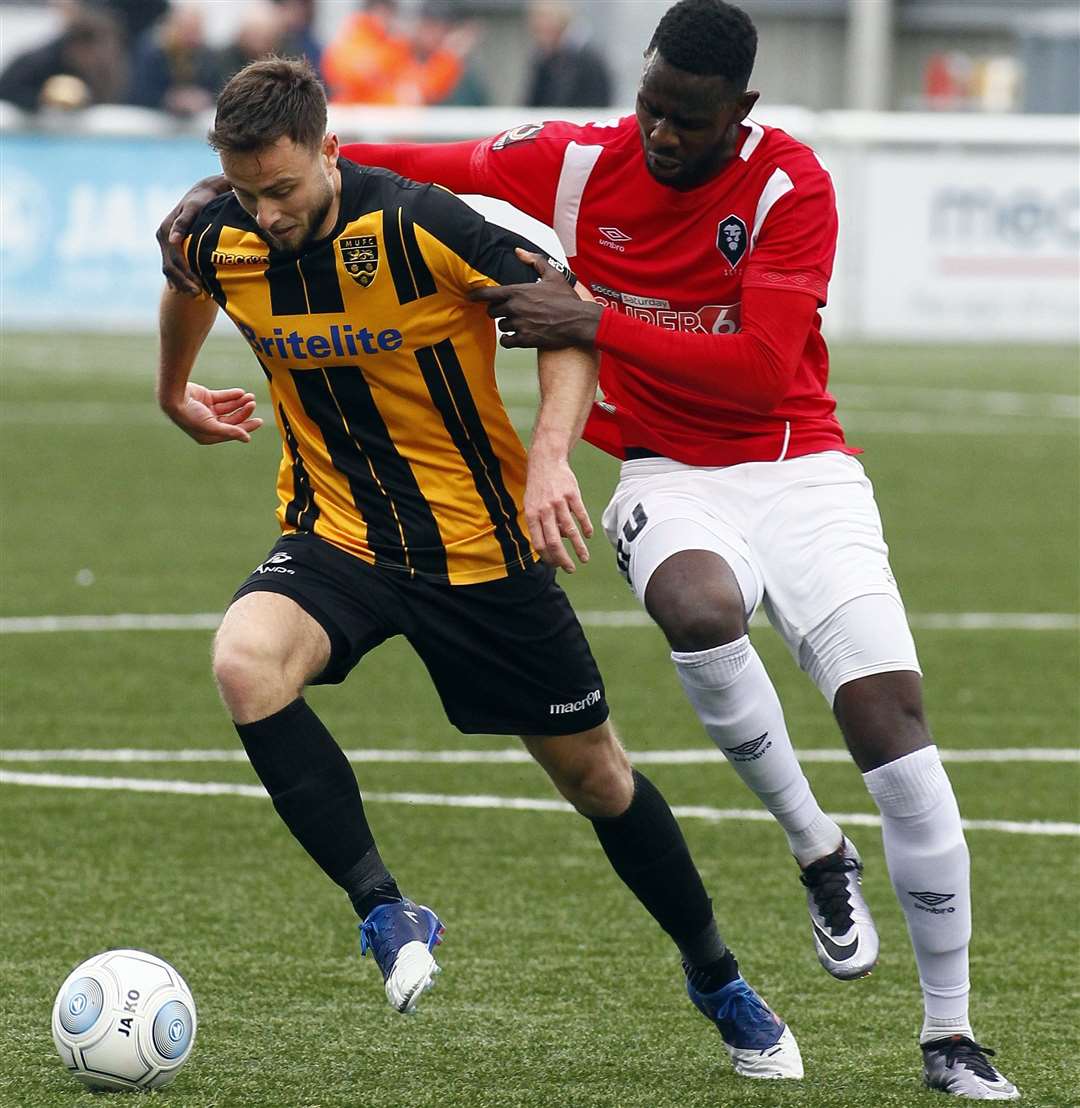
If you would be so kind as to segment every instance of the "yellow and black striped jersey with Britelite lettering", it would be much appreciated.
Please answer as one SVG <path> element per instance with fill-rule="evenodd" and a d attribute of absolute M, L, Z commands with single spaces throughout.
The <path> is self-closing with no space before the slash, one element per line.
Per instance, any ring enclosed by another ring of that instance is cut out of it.
<path fill-rule="evenodd" d="M 525 450 L 494 324 L 466 294 L 535 279 L 514 247 L 536 247 L 438 186 L 339 166 L 337 224 L 298 254 L 269 247 L 232 193 L 186 243 L 269 381 L 281 529 L 450 584 L 520 571 L 536 558 Z"/>

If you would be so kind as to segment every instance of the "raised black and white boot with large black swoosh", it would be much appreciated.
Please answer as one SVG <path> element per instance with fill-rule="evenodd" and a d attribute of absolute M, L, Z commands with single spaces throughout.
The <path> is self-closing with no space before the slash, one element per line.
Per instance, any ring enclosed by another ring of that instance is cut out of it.
<path fill-rule="evenodd" d="M 863 862 L 845 835 L 840 849 L 811 862 L 799 879 L 817 961 L 841 981 L 865 977 L 877 963 L 877 929 L 863 896 Z"/>

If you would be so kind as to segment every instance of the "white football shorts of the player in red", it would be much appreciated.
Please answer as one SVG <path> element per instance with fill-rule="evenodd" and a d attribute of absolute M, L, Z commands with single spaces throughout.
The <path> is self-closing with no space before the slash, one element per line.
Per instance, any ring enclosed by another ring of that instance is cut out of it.
<path fill-rule="evenodd" d="M 857 677 L 922 673 L 873 488 L 848 454 L 714 469 L 667 458 L 624 462 L 603 525 L 642 602 L 672 554 L 719 554 L 748 618 L 764 605 L 830 706 Z"/>

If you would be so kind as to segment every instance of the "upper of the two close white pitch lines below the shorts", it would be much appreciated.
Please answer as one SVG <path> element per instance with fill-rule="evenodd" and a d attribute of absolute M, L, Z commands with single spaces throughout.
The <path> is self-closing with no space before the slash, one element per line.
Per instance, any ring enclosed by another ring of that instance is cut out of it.
<path fill-rule="evenodd" d="M 357 765 L 429 765 L 429 766 L 507 766 L 526 765 L 532 755 L 521 747 L 502 750 L 346 750 L 346 757 Z M 938 750 L 942 761 L 967 765 L 1000 765 L 1002 762 L 1035 762 L 1042 765 L 1080 763 L 1080 749 L 1070 747 L 998 747 L 975 750 Z M 851 755 L 841 749 L 798 751 L 802 762 L 846 763 Z M 639 766 L 703 766 L 728 765 L 719 750 L 701 747 L 695 750 L 631 750 L 630 759 Z M 0 750 L 0 762 L 103 762 L 113 765 L 163 763 L 247 763 L 247 753 L 239 747 L 199 750 L 150 750 L 133 747 L 60 749 L 22 748 Z"/>

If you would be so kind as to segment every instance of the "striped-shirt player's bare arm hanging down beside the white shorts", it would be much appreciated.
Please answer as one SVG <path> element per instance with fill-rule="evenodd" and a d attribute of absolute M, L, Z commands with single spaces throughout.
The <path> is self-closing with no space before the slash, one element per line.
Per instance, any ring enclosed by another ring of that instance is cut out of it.
<path fill-rule="evenodd" d="M 523 261 L 533 265 L 541 280 L 556 280 L 569 288 L 538 254 L 518 250 Z M 572 295 L 592 300 L 578 284 Z M 578 347 L 542 350 L 537 358 L 541 403 L 528 449 L 525 481 L 525 523 L 529 538 L 549 565 L 574 572 L 574 561 L 563 540 L 568 538 L 577 560 L 589 557 L 585 540 L 592 537 L 593 522 L 582 501 L 577 478 L 570 469 L 569 453 L 582 435 L 596 397 L 597 359 Z"/>

